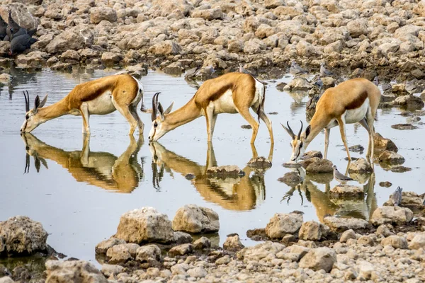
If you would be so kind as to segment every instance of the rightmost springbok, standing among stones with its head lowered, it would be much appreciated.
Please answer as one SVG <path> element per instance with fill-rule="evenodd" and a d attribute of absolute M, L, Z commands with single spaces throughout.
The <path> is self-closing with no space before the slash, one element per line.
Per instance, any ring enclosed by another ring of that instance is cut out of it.
<path fill-rule="evenodd" d="M 373 161 L 376 110 L 380 102 L 381 93 L 378 86 L 367 79 L 351 79 L 340 83 L 334 88 L 328 88 L 327 91 L 319 98 L 316 106 L 316 112 L 310 121 L 310 125 L 302 133 L 302 122 L 300 132 L 297 135 L 289 126 L 282 127 L 292 137 L 292 155 L 290 161 L 297 162 L 302 158 L 305 149 L 319 134 L 322 129 L 325 130 L 324 135 L 324 158 L 327 158 L 329 147 L 329 133 L 332 127 L 339 125 L 341 138 L 347 152 L 348 161 L 351 161 L 350 152 L 346 143 L 346 124 L 360 122 L 369 133 L 369 144 L 367 158 L 371 157 Z"/>

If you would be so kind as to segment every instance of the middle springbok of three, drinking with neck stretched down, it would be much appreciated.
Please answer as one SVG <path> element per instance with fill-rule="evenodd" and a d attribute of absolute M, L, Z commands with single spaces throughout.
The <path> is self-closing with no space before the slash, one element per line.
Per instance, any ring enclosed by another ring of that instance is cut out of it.
<path fill-rule="evenodd" d="M 258 119 L 266 123 L 273 144 L 271 121 L 264 112 L 265 94 L 266 88 L 263 83 L 249 74 L 242 73 L 229 73 L 205 81 L 196 91 L 195 96 L 174 112 L 171 112 L 173 103 L 164 111 L 161 103 L 158 103 L 159 93 L 155 93 L 152 98 L 152 129 L 149 132 L 149 141 L 157 141 L 176 127 L 205 116 L 208 142 L 210 142 L 217 115 L 239 113 L 252 127 L 251 144 L 254 144 L 259 122 L 256 122 L 249 113 L 249 108 L 252 108 L 258 115 Z"/>

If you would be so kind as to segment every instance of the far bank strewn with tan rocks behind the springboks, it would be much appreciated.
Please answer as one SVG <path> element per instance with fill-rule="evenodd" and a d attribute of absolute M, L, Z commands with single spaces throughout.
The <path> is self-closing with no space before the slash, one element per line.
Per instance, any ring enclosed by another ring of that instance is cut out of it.
<path fill-rule="evenodd" d="M 299 62 L 349 76 L 423 79 L 425 1 L 417 0 L 4 0 L 22 27 L 37 28 L 26 54 L 0 65 L 69 70 L 130 67 L 197 76 L 245 69 L 276 78 Z"/>

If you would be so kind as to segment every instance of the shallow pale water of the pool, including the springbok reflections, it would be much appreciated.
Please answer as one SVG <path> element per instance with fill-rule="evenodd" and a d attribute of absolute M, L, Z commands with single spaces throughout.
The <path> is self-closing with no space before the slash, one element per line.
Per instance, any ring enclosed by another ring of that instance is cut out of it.
<path fill-rule="evenodd" d="M 375 174 L 363 180 L 365 200 L 334 203 L 326 191 L 336 185 L 329 176 L 308 178 L 295 188 L 278 182 L 289 168 L 281 164 L 290 157 L 290 137 L 280 122 L 291 121 L 298 129 L 305 121 L 306 96 L 276 90 L 276 83 L 290 81 L 286 76 L 269 82 L 266 90 L 266 112 L 273 122 L 275 147 L 273 166 L 266 172 L 256 172 L 246 166 L 252 157 L 251 129 L 239 115 L 219 115 L 212 148 L 208 149 L 205 118 L 169 132 L 158 143 L 128 137 L 128 123 L 119 112 L 91 117 L 91 139 L 81 135 L 81 117 L 64 116 L 40 125 L 25 141 L 19 134 L 24 119 L 25 100 L 49 93 L 47 105 L 64 97 L 78 83 L 113 74 L 115 71 L 84 71 L 73 74 L 44 70 L 28 74 L 16 69 L 10 87 L 0 86 L 0 220 L 26 215 L 40 221 L 50 233 L 48 243 L 57 251 L 74 258 L 96 262 L 94 247 L 116 231 L 120 215 L 130 209 L 150 206 L 168 214 L 172 219 L 184 204 L 195 203 L 210 207 L 220 215 L 220 244 L 229 233 L 239 233 L 247 246 L 254 244 L 246 238 L 248 229 L 266 226 L 276 212 L 304 212 L 305 221 L 322 220 L 325 214 L 356 216 L 367 219 L 376 206 L 388 199 L 397 185 L 406 191 L 422 193 L 425 181 L 422 168 L 425 154 L 421 137 L 423 125 L 412 131 L 399 131 L 390 126 L 406 122 L 401 110 L 378 110 L 377 132 L 395 141 L 399 154 L 406 158 L 407 173 L 392 173 L 375 166 Z M 145 103 L 152 95 L 159 97 L 165 107 L 175 100 L 174 109 L 188 101 L 196 89 L 183 78 L 151 71 L 142 77 Z M 32 103 L 31 103 L 32 105 Z M 140 113 L 145 122 L 145 137 L 151 127 L 150 115 Z M 295 130 L 294 129 L 294 130 Z M 367 132 L 363 127 L 347 126 L 348 145 L 367 147 Z M 30 150 L 30 168 L 26 166 L 26 144 Z M 324 148 L 324 134 L 319 134 L 308 150 Z M 256 139 L 259 156 L 268 156 L 268 132 L 261 122 Z M 37 156 L 34 158 L 33 156 Z M 359 154 L 352 153 L 358 157 Z M 364 156 L 364 154 L 363 154 Z M 338 129 L 331 131 L 328 158 L 345 171 L 347 161 Z M 152 162 L 154 160 L 154 162 Z M 237 165 L 246 175 L 240 179 L 208 179 L 205 165 Z M 37 170 L 39 168 L 39 172 Z M 187 173 L 195 178 L 188 180 Z M 392 187 L 378 185 L 390 181 Z M 329 183 L 330 182 L 330 183 Z M 285 197 L 285 194 L 287 194 Z M 285 199 L 283 199 L 285 197 Z"/>

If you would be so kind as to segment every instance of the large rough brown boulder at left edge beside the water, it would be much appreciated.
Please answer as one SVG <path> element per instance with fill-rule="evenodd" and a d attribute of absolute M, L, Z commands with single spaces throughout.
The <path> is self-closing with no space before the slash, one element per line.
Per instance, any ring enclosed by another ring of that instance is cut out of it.
<path fill-rule="evenodd" d="M 4 247 L 0 249 L 0 258 L 44 252 L 47 249 L 47 236 L 41 223 L 28 216 L 14 216 L 1 221 L 0 239 L 3 238 Z"/>

